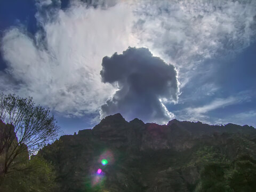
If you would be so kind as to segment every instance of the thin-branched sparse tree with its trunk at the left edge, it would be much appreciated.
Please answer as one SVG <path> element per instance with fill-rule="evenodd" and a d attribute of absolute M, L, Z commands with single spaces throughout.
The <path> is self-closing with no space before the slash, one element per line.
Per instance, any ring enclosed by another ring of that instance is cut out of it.
<path fill-rule="evenodd" d="M 28 151 L 32 155 L 55 139 L 59 132 L 59 126 L 50 110 L 36 106 L 30 97 L 24 99 L 15 94 L 0 94 L 0 119 L 8 126 L 13 125 L 10 129 L 0 131 L 4 174 L 19 154 Z"/>

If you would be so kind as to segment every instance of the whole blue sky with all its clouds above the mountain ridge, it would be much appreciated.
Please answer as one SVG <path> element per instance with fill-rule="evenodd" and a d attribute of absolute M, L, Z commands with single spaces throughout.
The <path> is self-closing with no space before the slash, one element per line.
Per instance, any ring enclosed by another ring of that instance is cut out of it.
<path fill-rule="evenodd" d="M 256 1 L 2 0 L 0 91 L 61 134 L 121 113 L 256 127 Z"/>

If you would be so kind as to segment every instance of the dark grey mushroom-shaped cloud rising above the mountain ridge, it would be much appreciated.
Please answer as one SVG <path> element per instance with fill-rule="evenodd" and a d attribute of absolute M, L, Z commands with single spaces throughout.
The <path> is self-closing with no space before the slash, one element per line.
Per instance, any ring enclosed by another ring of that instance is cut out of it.
<path fill-rule="evenodd" d="M 102 60 L 100 72 L 104 83 L 118 91 L 101 106 L 101 115 L 121 113 L 145 122 L 165 123 L 173 117 L 161 100 L 178 99 L 177 73 L 172 65 L 153 57 L 146 48 L 131 48 Z"/>

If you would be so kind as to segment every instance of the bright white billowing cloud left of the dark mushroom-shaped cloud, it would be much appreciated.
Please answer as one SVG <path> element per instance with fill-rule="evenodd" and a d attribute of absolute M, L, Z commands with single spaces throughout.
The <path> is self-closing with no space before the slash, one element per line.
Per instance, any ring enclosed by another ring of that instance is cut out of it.
<path fill-rule="evenodd" d="M 77 1 L 65 11 L 54 7 L 36 17 L 42 30 L 35 37 L 12 28 L 1 39 L 7 63 L 1 82 L 7 76 L 20 82 L 1 84 L 1 90 L 31 96 L 66 116 L 98 114 L 115 92 L 101 82 L 101 60 L 133 45 L 131 10 L 124 4 L 94 9 Z"/>

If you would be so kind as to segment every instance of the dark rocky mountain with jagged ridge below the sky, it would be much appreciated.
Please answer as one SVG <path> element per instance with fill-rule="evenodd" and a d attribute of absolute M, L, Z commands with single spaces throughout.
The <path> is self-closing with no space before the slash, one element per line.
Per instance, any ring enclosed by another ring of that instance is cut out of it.
<path fill-rule="evenodd" d="M 63 135 L 38 156 L 54 166 L 59 191 L 256 189 L 256 130 L 248 125 L 145 124 L 115 114 Z"/>

